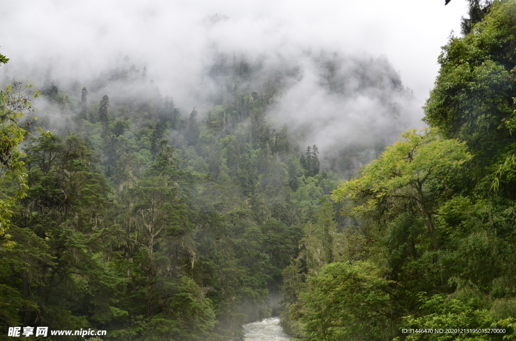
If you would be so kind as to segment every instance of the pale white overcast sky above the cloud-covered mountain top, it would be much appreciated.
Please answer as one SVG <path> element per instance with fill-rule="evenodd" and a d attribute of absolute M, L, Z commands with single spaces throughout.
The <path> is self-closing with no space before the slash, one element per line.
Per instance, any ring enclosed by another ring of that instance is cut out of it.
<path fill-rule="evenodd" d="M 423 100 L 451 30 L 460 31 L 464 0 L 2 0 L 0 52 L 11 68 L 98 72 L 131 56 L 167 91 L 197 77 L 210 50 L 293 54 L 302 49 L 385 55 Z M 215 25 L 216 13 L 229 19 Z M 24 64 L 27 67 L 28 64 Z M 27 71 L 28 72 L 28 71 Z"/>

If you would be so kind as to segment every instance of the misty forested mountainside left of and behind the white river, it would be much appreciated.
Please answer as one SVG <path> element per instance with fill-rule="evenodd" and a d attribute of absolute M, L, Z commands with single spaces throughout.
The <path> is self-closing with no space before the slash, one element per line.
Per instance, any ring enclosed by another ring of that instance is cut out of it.
<path fill-rule="evenodd" d="M 244 58 L 217 59 L 193 109 L 127 58 L 82 83 L 49 67 L 25 88 L 5 72 L 0 338 L 47 326 L 237 340 L 243 323 L 279 313 L 292 264 L 341 259 L 327 241 L 353 220 L 331 192 L 405 128 L 396 100 L 410 92 L 384 59 L 312 61 L 327 94 L 382 109 L 380 135 L 308 145 L 306 124 L 278 123 L 302 72 Z"/>

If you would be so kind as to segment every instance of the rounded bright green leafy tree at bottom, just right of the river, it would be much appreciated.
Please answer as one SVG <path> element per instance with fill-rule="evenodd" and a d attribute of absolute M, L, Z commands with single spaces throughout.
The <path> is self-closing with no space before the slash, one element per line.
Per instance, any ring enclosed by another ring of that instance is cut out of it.
<path fill-rule="evenodd" d="M 333 263 L 307 285 L 300 298 L 308 340 L 392 339 L 391 289 L 373 264 Z"/>

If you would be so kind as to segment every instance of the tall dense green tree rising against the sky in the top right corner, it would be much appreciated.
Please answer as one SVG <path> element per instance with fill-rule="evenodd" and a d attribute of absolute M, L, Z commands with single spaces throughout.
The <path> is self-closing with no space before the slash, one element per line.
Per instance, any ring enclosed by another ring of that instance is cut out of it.
<path fill-rule="evenodd" d="M 496 1 L 470 34 L 451 38 L 439 57 L 441 70 L 425 105 L 425 121 L 446 138 L 465 141 L 475 155 L 470 172 L 474 181 L 460 183 L 463 193 L 488 191 L 495 169 L 515 152 L 514 18 L 514 1 Z M 512 198 L 510 180 L 495 185 L 498 195 Z"/>

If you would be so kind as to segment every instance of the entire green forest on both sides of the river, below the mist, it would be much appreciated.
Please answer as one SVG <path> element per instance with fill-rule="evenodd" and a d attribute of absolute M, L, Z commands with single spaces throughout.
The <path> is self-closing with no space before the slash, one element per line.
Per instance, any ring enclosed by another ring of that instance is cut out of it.
<path fill-rule="evenodd" d="M 218 56 L 193 108 L 128 57 L 73 81 L 4 72 L 0 340 L 237 341 L 278 315 L 292 340 L 516 337 L 516 0 L 469 4 L 422 129 L 383 59 L 310 57 L 322 89 L 390 122 L 324 150 L 271 118 L 292 65 Z"/>

